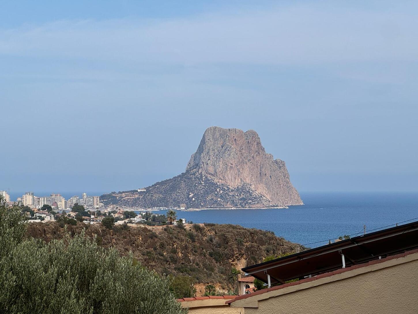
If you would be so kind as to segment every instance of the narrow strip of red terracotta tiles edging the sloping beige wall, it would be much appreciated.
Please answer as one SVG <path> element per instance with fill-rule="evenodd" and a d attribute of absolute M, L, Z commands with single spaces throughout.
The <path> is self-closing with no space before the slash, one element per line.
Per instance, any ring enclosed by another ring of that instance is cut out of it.
<path fill-rule="evenodd" d="M 279 290 L 279 289 L 287 288 L 287 287 L 290 287 L 290 286 L 296 286 L 296 285 L 301 284 L 301 283 L 306 283 L 306 282 L 314 281 L 314 280 L 317 280 L 317 279 L 320 279 L 320 278 L 330 277 L 332 275 L 345 273 L 347 271 L 354 270 L 354 269 L 357 269 L 357 268 L 362 268 L 362 267 L 366 267 L 366 266 L 370 266 L 370 265 L 374 265 L 374 264 L 383 263 L 383 262 L 386 262 L 387 260 L 393 260 L 395 258 L 405 257 L 405 256 L 413 254 L 413 253 L 418 253 L 418 249 L 410 250 L 410 251 L 407 251 L 405 253 L 391 255 L 391 256 L 382 258 L 380 260 L 371 260 L 370 262 L 353 265 L 351 267 L 339 268 L 337 270 L 330 271 L 328 273 L 323 273 L 321 275 L 317 275 L 317 276 L 312 277 L 312 278 L 305 278 L 305 279 L 301 279 L 299 281 L 294 281 L 294 282 L 291 282 L 291 283 L 285 283 L 285 284 L 280 285 L 280 286 L 265 288 L 265 289 L 262 289 L 262 290 L 259 290 L 259 291 L 252 292 L 250 294 L 243 294 L 241 296 L 237 296 L 233 300 L 226 301 L 225 304 L 231 304 L 234 301 L 241 300 L 241 299 L 247 299 L 247 298 L 250 298 L 252 296 L 257 296 L 259 294 L 263 294 L 263 293 L 266 293 L 266 292 L 269 292 L 269 291 Z"/>

